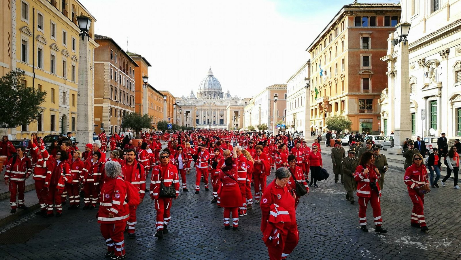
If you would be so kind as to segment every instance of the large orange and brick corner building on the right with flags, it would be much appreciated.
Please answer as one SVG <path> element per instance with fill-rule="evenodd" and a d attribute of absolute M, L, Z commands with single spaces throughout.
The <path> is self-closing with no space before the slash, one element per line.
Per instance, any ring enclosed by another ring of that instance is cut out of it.
<path fill-rule="evenodd" d="M 336 114 L 352 120 L 349 131 L 378 133 L 378 100 L 387 84 L 387 63 L 380 58 L 400 14 L 394 3 L 343 6 L 307 48 L 311 130 L 325 132 L 326 120 Z"/>

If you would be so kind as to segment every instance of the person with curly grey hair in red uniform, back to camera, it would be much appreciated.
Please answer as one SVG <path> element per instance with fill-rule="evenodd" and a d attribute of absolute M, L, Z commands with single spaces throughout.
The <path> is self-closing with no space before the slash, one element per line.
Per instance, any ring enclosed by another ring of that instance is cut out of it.
<path fill-rule="evenodd" d="M 122 168 L 116 161 L 108 161 L 104 165 L 106 178 L 101 187 L 101 199 L 98 211 L 98 223 L 101 234 L 106 239 L 107 252 L 111 259 L 125 257 L 124 235 L 126 219 L 130 212 L 126 198 L 126 186 L 122 176 Z"/>

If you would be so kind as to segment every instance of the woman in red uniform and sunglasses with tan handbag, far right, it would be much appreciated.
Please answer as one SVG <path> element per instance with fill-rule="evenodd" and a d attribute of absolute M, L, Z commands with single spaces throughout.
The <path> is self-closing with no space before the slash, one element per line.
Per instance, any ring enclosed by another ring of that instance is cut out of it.
<path fill-rule="evenodd" d="M 408 186 L 408 195 L 411 198 L 411 202 L 413 202 L 411 226 L 419 227 L 421 231 L 428 231 L 429 228 L 426 226 L 426 218 L 424 217 L 424 193 L 421 193 L 418 189 L 429 183 L 426 165 L 423 163 L 423 156 L 421 154 L 413 155 L 413 164 L 405 171 L 403 181 Z"/>

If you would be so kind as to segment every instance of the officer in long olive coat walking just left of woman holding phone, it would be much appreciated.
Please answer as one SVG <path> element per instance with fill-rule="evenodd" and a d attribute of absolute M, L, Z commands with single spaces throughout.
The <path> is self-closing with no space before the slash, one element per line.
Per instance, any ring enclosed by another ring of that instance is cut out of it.
<path fill-rule="evenodd" d="M 354 204 L 354 191 L 357 190 L 357 182 L 354 178 L 355 168 L 359 165 L 359 158 L 355 157 L 355 148 L 347 151 L 348 156 L 344 157 L 341 165 L 343 166 L 344 189 L 347 191 L 346 200 Z"/>

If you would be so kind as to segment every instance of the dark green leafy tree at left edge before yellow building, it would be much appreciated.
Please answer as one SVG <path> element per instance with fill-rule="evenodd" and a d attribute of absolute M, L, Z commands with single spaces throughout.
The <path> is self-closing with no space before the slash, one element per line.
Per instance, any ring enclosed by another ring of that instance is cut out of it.
<path fill-rule="evenodd" d="M 15 128 L 35 122 L 43 112 L 47 92 L 24 86 L 25 71 L 16 69 L 0 79 L 0 127 Z"/>

